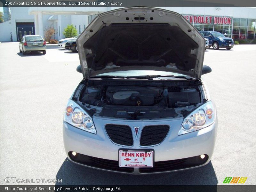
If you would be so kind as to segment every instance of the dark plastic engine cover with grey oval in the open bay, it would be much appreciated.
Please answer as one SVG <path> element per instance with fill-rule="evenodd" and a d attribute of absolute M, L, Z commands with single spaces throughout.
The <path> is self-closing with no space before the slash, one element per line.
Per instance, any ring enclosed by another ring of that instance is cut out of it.
<path fill-rule="evenodd" d="M 154 105 L 156 90 L 136 86 L 108 86 L 106 96 L 110 104 L 125 106 Z"/>

